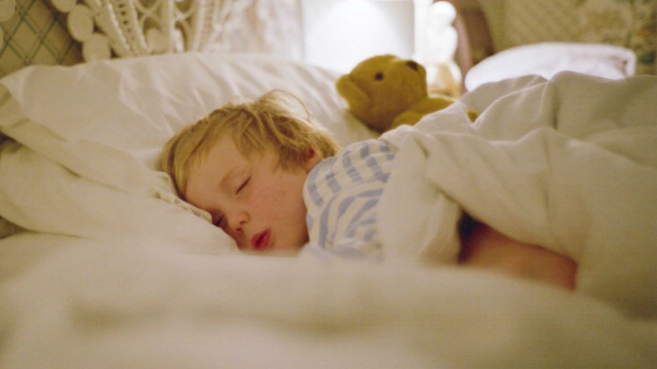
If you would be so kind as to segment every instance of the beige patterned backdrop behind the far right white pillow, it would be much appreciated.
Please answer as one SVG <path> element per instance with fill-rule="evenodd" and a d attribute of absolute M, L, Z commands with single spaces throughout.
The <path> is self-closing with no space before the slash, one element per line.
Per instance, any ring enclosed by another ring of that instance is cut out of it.
<path fill-rule="evenodd" d="M 546 41 L 607 43 L 637 55 L 655 74 L 656 0 L 480 0 L 495 51 Z"/>

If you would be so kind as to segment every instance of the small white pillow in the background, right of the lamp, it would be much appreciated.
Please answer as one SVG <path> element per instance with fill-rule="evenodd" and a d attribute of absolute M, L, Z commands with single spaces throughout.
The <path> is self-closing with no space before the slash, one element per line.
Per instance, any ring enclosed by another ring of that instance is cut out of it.
<path fill-rule="evenodd" d="M 598 43 L 545 42 L 513 47 L 472 67 L 465 87 L 472 91 L 488 82 L 535 74 L 550 79 L 570 70 L 592 76 L 620 79 L 633 76 L 637 58 L 623 47 Z"/>

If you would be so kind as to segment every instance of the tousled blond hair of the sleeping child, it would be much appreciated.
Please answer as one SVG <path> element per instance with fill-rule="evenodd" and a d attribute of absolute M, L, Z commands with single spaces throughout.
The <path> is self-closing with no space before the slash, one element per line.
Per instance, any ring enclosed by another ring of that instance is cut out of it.
<path fill-rule="evenodd" d="M 302 112 L 294 111 L 289 102 L 297 102 Z M 267 147 L 274 148 L 279 166 L 285 170 L 301 167 L 310 149 L 321 158 L 333 156 L 338 150 L 327 131 L 311 121 L 304 103 L 291 93 L 275 90 L 253 102 L 229 103 L 181 129 L 164 147 L 162 169 L 171 176 L 178 196 L 185 198 L 194 163 L 228 134 L 246 158 Z"/>

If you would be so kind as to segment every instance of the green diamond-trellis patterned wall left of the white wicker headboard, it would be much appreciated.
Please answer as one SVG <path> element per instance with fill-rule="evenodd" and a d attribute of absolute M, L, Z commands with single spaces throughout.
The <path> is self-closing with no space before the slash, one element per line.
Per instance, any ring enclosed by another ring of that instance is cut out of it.
<path fill-rule="evenodd" d="M 7 19 L 0 19 L 0 77 L 30 64 L 70 65 L 82 60 L 79 44 L 66 29 L 66 17 L 49 1 L 17 0 L 14 12 L 8 5 L 3 9 Z"/>

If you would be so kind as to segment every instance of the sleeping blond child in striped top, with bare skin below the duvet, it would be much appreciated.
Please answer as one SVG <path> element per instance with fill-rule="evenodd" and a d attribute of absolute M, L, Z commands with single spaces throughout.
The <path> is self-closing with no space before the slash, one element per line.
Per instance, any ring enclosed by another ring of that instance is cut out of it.
<path fill-rule="evenodd" d="M 162 156 L 177 194 L 246 252 L 383 261 L 377 204 L 398 148 L 380 137 L 338 150 L 307 110 L 288 108 L 290 98 L 272 91 L 227 104 L 179 131 Z M 466 214 L 461 225 L 460 265 L 574 288 L 571 259 Z"/>

